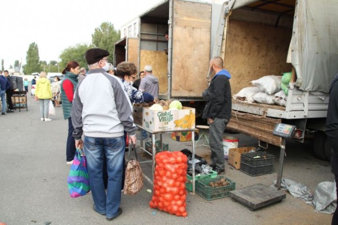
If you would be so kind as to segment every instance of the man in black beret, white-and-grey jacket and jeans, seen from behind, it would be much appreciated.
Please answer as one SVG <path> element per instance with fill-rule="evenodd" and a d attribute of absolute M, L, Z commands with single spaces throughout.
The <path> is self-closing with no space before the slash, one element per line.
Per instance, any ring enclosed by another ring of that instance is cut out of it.
<path fill-rule="evenodd" d="M 75 146 L 84 148 L 87 158 L 93 209 L 107 220 L 113 220 L 122 213 L 119 206 L 125 148 L 123 132 L 128 132 L 129 140 L 136 143 L 137 128 L 121 80 L 106 72 L 109 69 L 107 56 L 109 52 L 100 48 L 86 51 L 89 71 L 74 93 L 72 125 Z M 104 155 L 109 176 L 107 193 L 102 179 Z"/>

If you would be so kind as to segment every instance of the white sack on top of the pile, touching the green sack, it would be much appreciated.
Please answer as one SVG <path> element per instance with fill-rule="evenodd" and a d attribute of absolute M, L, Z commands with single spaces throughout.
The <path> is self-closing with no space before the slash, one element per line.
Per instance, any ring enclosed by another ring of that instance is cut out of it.
<path fill-rule="evenodd" d="M 281 90 L 281 79 L 281 76 L 268 75 L 251 81 L 251 84 L 262 92 L 273 94 Z"/>

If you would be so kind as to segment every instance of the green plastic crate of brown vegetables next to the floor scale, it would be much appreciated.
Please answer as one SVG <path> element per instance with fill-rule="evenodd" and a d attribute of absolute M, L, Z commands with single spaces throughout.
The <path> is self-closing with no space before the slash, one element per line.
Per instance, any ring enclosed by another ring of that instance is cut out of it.
<path fill-rule="evenodd" d="M 224 187 L 211 187 L 209 186 L 210 182 L 214 182 L 216 180 L 225 179 L 229 182 L 228 186 Z M 202 179 L 202 180 L 196 180 L 196 193 L 201 196 L 205 200 L 214 200 L 214 199 L 220 199 L 224 197 L 230 196 L 230 191 L 235 190 L 236 183 L 235 181 L 232 181 L 230 179 L 227 179 L 223 176 L 217 176 L 217 178 L 212 179 Z"/>

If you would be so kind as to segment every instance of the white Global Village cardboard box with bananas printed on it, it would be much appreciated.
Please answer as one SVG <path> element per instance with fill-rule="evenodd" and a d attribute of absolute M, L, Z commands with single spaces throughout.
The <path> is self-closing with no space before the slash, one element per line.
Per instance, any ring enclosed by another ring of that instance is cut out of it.
<path fill-rule="evenodd" d="M 144 107 L 142 119 L 142 126 L 154 132 L 195 129 L 195 109 L 190 107 L 161 111 Z"/>

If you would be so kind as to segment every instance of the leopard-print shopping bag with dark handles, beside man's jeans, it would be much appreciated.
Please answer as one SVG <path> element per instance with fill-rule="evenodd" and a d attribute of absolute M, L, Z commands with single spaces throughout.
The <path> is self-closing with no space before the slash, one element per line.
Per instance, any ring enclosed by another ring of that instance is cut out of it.
<path fill-rule="evenodd" d="M 135 158 L 131 158 L 134 151 Z M 143 177 L 140 162 L 137 159 L 136 149 L 133 143 L 129 147 L 129 158 L 125 168 L 124 194 L 136 195 L 143 187 Z"/>

